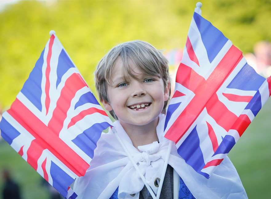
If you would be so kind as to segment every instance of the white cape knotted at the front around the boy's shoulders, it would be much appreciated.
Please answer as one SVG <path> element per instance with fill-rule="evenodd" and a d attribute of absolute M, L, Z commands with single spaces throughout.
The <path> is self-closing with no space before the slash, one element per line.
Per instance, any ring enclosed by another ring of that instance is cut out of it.
<path fill-rule="evenodd" d="M 164 128 L 163 123 L 160 122 L 163 119 L 164 115 L 160 115 L 156 128 L 159 143 L 153 142 L 139 146 L 140 151 L 133 146 L 121 124 L 118 121 L 113 124 L 154 193 L 157 193 L 158 188 L 153 182 L 156 177 L 161 177 L 161 169 L 169 144 L 169 141 L 163 137 Z M 172 147 L 168 164 L 183 179 L 195 198 L 247 198 L 240 177 L 228 157 L 217 166 L 209 179 L 186 164 L 185 160 L 178 155 L 176 146 Z M 118 187 L 119 199 L 138 199 L 144 182 L 110 129 L 108 133 L 102 133 L 97 142 L 97 148 L 86 175 L 75 180 L 74 192 L 78 195 L 78 199 L 109 199 Z M 134 193 L 135 196 L 130 195 Z"/>

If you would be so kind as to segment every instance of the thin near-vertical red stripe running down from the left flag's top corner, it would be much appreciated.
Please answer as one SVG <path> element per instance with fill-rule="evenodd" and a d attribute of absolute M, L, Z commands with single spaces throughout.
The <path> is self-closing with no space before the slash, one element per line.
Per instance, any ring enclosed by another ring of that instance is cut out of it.
<path fill-rule="evenodd" d="M 54 43 L 54 38 L 55 36 L 52 35 L 50 37 L 50 41 L 49 41 L 49 49 L 48 49 L 48 54 L 47 54 L 47 67 L 45 70 L 45 77 L 46 77 L 46 82 L 45 82 L 45 108 L 46 108 L 46 115 L 48 114 L 48 110 L 49 110 L 49 106 L 50 106 L 50 95 L 49 95 L 49 90 L 50 90 L 50 80 L 49 80 L 49 76 L 50 76 L 50 61 L 51 61 L 51 56 L 52 56 L 52 46 Z"/>

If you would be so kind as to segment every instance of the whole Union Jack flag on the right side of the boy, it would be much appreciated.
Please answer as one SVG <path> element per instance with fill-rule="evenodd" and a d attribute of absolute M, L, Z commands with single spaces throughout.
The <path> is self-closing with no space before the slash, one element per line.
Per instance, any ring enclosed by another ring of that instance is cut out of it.
<path fill-rule="evenodd" d="M 178 154 L 209 178 L 271 95 L 271 78 L 249 66 L 221 31 L 195 12 L 175 91 L 166 113 L 165 137 Z"/>

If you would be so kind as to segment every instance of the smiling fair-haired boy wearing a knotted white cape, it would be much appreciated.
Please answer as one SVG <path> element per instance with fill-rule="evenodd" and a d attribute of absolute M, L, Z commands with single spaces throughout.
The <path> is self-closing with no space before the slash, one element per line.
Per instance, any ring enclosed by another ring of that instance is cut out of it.
<path fill-rule="evenodd" d="M 102 133 L 90 168 L 76 179 L 74 191 L 82 199 L 152 198 L 129 156 L 157 194 L 171 144 L 163 137 L 170 96 L 167 60 L 149 43 L 122 43 L 102 58 L 95 75 L 99 98 L 116 119 L 113 125 L 118 136 L 111 129 Z M 247 198 L 228 158 L 206 179 L 185 163 L 176 146 L 170 152 L 160 198 L 173 199 L 173 192 L 179 192 L 178 198 Z"/>

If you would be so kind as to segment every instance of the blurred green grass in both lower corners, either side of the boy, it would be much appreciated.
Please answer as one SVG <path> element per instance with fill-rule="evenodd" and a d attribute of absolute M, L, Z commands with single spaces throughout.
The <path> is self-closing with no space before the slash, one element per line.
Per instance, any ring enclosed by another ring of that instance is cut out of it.
<path fill-rule="evenodd" d="M 229 153 L 249 198 L 270 198 L 271 99 Z M 0 142 L 0 169 L 6 167 L 21 185 L 24 199 L 46 199 L 41 177 L 5 141 Z M 0 180 L 2 187 L 2 179 Z M 0 196 L 1 199 L 1 196 Z"/>

